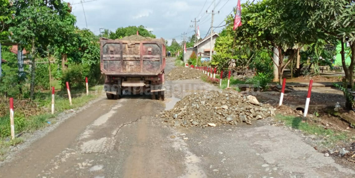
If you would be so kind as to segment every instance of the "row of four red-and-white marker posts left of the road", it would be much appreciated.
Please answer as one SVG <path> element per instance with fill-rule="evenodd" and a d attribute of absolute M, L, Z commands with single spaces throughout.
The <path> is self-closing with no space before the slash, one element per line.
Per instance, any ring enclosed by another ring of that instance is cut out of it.
<path fill-rule="evenodd" d="M 85 78 L 85 83 L 86 83 L 86 95 L 89 95 L 89 85 L 88 85 L 88 78 Z M 70 94 L 70 88 L 69 88 L 69 82 L 66 82 L 66 87 L 68 91 L 68 98 L 69 98 L 69 104 L 72 105 L 71 102 L 71 94 Z M 51 104 L 51 113 L 52 115 L 54 114 L 54 87 L 52 87 L 52 104 Z M 10 98 L 10 128 L 11 128 L 11 139 L 15 138 L 15 113 L 13 110 L 13 98 Z"/>

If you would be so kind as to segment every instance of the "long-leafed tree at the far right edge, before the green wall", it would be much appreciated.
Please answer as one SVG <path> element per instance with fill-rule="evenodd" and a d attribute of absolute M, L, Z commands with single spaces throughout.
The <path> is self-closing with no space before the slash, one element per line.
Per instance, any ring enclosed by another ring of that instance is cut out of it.
<path fill-rule="evenodd" d="M 302 6 L 302 14 L 309 18 L 308 28 L 318 28 L 323 33 L 332 35 L 340 41 L 342 65 L 345 78 L 350 83 L 352 90 L 355 90 L 354 68 L 355 68 L 355 1 L 354 0 L 298 0 Z M 345 44 L 350 44 L 350 65 L 345 64 Z M 347 82 L 342 90 L 346 98 L 346 108 L 355 109 L 353 97 L 347 90 Z M 340 86 L 338 86 L 340 87 Z"/>

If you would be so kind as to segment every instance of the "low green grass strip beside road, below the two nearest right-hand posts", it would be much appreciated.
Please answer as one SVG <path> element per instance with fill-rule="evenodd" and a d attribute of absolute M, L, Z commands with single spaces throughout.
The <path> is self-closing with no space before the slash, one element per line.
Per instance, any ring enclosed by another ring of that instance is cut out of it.
<path fill-rule="evenodd" d="M 331 145 L 338 143 L 339 141 L 345 141 L 349 139 L 349 135 L 345 132 L 335 132 L 331 129 L 324 129 L 321 126 L 302 122 L 301 117 L 277 115 L 276 118 L 285 122 L 286 126 L 288 127 L 302 130 L 307 134 L 319 135 L 324 137 L 324 145 Z"/>

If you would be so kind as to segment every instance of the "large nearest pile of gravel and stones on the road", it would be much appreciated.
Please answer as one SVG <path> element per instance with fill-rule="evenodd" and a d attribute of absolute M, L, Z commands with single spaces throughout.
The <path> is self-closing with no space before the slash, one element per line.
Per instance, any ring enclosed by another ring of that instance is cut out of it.
<path fill-rule="evenodd" d="M 254 96 L 236 91 L 202 91 L 185 96 L 160 117 L 174 127 L 216 127 L 235 125 L 275 115 L 275 109 L 262 106 Z"/>

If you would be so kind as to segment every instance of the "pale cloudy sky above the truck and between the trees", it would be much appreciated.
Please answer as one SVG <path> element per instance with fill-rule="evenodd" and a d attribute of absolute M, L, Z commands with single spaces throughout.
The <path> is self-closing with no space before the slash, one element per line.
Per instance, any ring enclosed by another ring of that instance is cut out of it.
<path fill-rule="evenodd" d="M 77 17 L 76 26 L 86 28 L 83 7 L 80 0 L 67 0 L 73 4 L 72 13 Z M 100 28 L 115 31 L 118 27 L 143 25 L 152 30 L 157 38 L 169 41 L 175 38 L 182 41 L 182 33 L 188 33 L 191 37 L 195 23 L 191 20 L 200 20 L 201 38 L 204 38 L 211 27 L 211 12 L 213 0 L 83 0 L 86 14 L 87 27 L 99 34 Z M 91 1 L 91 2 L 89 2 Z M 241 0 L 241 3 L 246 0 Z M 206 4 L 205 4 L 206 3 Z M 224 18 L 231 13 L 237 5 L 237 0 L 215 0 L 215 12 L 213 26 L 217 27 Z M 201 12 L 201 13 L 200 13 Z M 222 25 L 225 23 L 223 22 Z M 220 32 L 222 28 L 214 29 Z"/>

